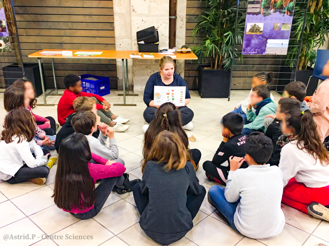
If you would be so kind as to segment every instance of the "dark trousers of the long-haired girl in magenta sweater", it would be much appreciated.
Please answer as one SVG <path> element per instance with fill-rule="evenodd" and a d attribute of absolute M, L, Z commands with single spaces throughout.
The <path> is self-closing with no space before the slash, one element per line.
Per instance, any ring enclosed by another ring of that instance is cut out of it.
<path fill-rule="evenodd" d="M 111 194 L 113 187 L 115 185 L 121 186 L 123 184 L 123 181 L 123 176 L 102 179 L 99 186 L 95 189 L 96 201 L 94 204 L 94 208 L 90 209 L 85 213 L 70 214 L 76 217 L 77 219 L 91 219 L 95 217 L 103 208 L 104 203 L 107 200 L 109 194 Z"/>

